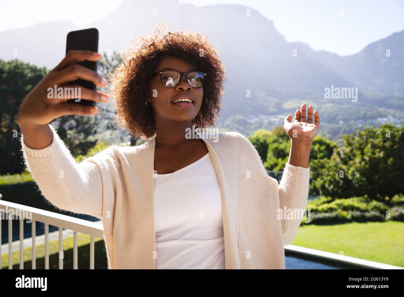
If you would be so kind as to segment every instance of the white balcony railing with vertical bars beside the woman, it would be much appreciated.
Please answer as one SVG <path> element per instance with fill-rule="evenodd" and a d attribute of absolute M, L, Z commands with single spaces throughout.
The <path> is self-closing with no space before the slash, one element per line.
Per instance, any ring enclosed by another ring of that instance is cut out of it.
<path fill-rule="evenodd" d="M 2 195 L 0 194 L 0 199 L 1 197 Z M 13 269 L 13 217 L 20 220 L 20 269 L 24 269 L 24 219 L 32 219 L 32 269 L 36 269 L 36 221 L 42 222 L 45 225 L 45 269 L 49 269 L 49 225 L 59 227 L 59 255 L 63 252 L 63 228 L 73 231 L 73 269 L 78 269 L 77 234 L 89 235 L 90 269 L 94 269 L 94 238 L 103 239 L 104 231 L 101 224 L 4 200 L 0 200 L 0 218 L 1 212 L 5 212 L 4 217 L 8 220 L 8 269 Z M 0 240 L 2 238 L 1 232 L 0 228 Z M 0 247 L 0 269 L 1 256 L 2 249 Z M 59 257 L 59 269 L 63 269 L 63 257 Z"/>

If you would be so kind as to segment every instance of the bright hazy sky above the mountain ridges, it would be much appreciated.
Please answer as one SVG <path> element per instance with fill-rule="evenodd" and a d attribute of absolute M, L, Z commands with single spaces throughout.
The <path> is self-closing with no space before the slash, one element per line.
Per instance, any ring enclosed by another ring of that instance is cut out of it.
<path fill-rule="evenodd" d="M 0 31 L 41 22 L 72 20 L 79 27 L 107 16 L 123 0 L 1 1 Z M 148 0 L 152 1 L 152 0 Z M 179 0 L 198 6 L 242 4 L 274 21 L 289 42 L 352 55 L 371 42 L 404 29 L 403 0 Z M 88 13 L 90 12 L 90 13 Z M 342 16 L 341 16 L 342 15 Z"/>

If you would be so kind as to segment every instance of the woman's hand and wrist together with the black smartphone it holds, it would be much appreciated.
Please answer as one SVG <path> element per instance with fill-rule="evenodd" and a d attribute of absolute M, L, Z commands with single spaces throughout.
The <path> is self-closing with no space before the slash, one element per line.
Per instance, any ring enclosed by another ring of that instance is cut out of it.
<path fill-rule="evenodd" d="M 52 135 L 48 123 L 52 120 L 67 115 L 93 116 L 98 113 L 95 103 L 108 101 L 107 93 L 97 91 L 97 86 L 107 85 L 107 80 L 97 73 L 97 61 L 101 59 L 97 51 L 97 29 L 68 34 L 66 57 L 46 74 L 20 105 L 17 122 L 30 147 L 40 149 L 50 143 Z M 72 89 L 79 90 L 79 96 Z M 76 101 L 78 97 L 79 102 Z M 41 129 L 46 133 L 40 133 Z"/>

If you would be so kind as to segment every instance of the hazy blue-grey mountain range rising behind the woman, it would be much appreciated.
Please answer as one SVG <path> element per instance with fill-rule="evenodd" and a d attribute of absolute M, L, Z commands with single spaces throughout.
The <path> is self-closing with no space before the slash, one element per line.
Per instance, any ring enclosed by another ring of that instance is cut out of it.
<path fill-rule="evenodd" d="M 99 29 L 99 52 L 120 52 L 130 38 L 148 34 L 161 19 L 175 29 L 205 32 L 229 75 L 223 121 L 231 116 L 240 120 L 239 115 L 285 115 L 303 102 L 321 108 L 328 123 L 346 123 L 353 116 L 359 120 L 401 118 L 404 30 L 372 42 L 355 55 L 341 57 L 314 51 L 303 42 L 287 42 L 271 20 L 254 9 L 247 16 L 247 9 L 233 4 L 196 7 L 178 0 L 125 0 L 103 19 L 82 28 Z M 17 49 L 18 59 L 53 68 L 65 54 L 67 32 L 76 29 L 71 21 L 59 21 L 0 32 L 0 59 L 14 59 Z M 386 50 L 390 50 L 389 57 Z M 324 99 L 324 88 L 332 85 L 357 87 L 360 99 Z M 246 97 L 247 90 L 251 97 Z M 356 110 L 360 112 L 351 114 Z M 245 118 L 241 122 L 250 123 Z"/>

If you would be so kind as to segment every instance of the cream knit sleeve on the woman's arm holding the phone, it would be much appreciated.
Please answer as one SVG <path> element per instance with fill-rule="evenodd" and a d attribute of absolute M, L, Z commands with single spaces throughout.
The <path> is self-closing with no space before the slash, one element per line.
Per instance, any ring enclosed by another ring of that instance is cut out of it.
<path fill-rule="evenodd" d="M 102 219 L 106 204 L 103 196 L 114 195 L 113 186 L 106 186 L 111 185 L 108 175 L 102 175 L 102 170 L 117 170 L 118 166 L 114 165 L 118 160 L 113 148 L 77 163 L 53 126 L 49 126 L 53 134 L 52 143 L 43 149 L 28 147 L 21 136 L 28 171 L 42 195 L 59 209 Z M 111 166 L 106 168 L 107 164 Z"/>

